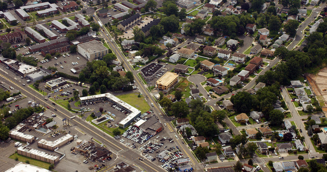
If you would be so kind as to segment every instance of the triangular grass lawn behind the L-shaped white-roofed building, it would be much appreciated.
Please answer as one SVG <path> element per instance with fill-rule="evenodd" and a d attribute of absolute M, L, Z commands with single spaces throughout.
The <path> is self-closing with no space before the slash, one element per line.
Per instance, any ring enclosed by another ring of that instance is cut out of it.
<path fill-rule="evenodd" d="M 146 103 L 146 101 L 142 96 L 137 97 L 137 95 L 138 93 L 130 93 L 130 94 L 119 95 L 116 97 L 132 105 L 136 109 L 140 110 L 141 113 L 148 111 L 150 109 L 150 106 Z"/>

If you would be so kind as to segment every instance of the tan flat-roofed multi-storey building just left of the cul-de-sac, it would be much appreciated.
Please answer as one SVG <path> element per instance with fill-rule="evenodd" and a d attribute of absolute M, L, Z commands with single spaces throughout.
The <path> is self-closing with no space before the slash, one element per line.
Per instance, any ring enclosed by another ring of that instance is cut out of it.
<path fill-rule="evenodd" d="M 167 72 L 156 81 L 159 90 L 169 91 L 178 82 L 178 74 Z"/>

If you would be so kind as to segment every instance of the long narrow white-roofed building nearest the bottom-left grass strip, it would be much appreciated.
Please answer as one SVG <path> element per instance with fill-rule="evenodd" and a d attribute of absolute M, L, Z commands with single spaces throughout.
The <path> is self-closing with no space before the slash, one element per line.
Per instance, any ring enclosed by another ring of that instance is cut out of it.
<path fill-rule="evenodd" d="M 48 163 L 56 164 L 59 162 L 59 156 L 53 155 L 41 150 L 33 149 L 26 146 L 21 146 L 17 148 L 17 153 L 33 159 L 41 160 Z"/>

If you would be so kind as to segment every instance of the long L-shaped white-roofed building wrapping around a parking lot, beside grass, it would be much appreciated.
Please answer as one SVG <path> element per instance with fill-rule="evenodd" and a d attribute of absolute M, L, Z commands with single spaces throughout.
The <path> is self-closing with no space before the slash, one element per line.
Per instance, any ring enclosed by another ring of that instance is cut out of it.
<path fill-rule="evenodd" d="M 141 111 L 136 109 L 135 107 L 129 105 L 128 103 L 120 100 L 116 96 L 105 93 L 105 94 L 98 94 L 93 96 L 86 96 L 86 97 L 79 97 L 80 103 L 84 104 L 87 102 L 99 102 L 103 100 L 108 100 L 109 102 L 120 106 L 121 108 L 125 109 L 129 114 L 122 119 L 118 124 L 120 127 L 125 128 L 127 127 L 134 119 L 140 116 Z"/>

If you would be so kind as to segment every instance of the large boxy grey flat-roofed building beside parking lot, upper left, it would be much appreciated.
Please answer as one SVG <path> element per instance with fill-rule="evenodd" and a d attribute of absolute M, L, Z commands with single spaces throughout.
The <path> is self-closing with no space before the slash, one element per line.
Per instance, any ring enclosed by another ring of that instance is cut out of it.
<path fill-rule="evenodd" d="M 102 59 L 108 54 L 108 48 L 103 46 L 100 41 L 90 41 L 77 45 L 77 52 L 85 57 L 88 61 Z"/>

